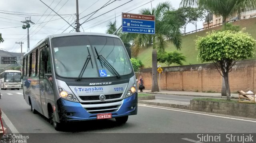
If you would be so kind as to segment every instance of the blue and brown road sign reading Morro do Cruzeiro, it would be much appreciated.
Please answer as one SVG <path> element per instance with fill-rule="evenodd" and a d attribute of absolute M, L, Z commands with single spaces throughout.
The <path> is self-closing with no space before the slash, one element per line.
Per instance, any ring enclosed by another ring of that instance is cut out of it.
<path fill-rule="evenodd" d="M 155 33 L 155 16 L 122 13 L 122 32 Z"/>

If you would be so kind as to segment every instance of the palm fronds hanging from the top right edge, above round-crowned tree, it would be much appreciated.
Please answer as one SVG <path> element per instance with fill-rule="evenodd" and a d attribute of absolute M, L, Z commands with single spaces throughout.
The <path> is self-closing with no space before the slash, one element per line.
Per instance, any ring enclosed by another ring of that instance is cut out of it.
<path fill-rule="evenodd" d="M 240 14 L 241 9 L 256 8 L 256 0 L 182 0 L 182 6 L 198 6 L 211 10 L 216 16 L 222 16 L 223 29 L 226 29 L 228 16 Z"/>

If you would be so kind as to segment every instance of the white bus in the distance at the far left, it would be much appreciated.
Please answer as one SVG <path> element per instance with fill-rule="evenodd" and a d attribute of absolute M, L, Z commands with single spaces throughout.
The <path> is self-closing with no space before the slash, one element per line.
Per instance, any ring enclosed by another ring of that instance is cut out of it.
<path fill-rule="evenodd" d="M 6 89 L 20 90 L 21 84 L 22 84 L 21 71 L 7 70 L 0 73 L 1 90 L 6 90 Z"/>

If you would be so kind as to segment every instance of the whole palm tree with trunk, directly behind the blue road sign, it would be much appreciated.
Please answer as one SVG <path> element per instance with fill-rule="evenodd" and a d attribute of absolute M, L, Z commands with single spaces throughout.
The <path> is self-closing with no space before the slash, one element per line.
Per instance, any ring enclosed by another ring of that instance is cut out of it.
<path fill-rule="evenodd" d="M 152 92 L 159 91 L 157 82 L 157 52 L 164 53 L 168 47 L 166 39 L 169 39 L 176 49 L 181 48 L 181 32 L 180 27 L 182 25 L 175 22 L 175 19 L 165 15 L 170 10 L 170 2 L 159 3 L 155 8 L 151 10 L 149 8 L 140 10 L 140 14 L 155 16 L 155 34 L 137 34 L 134 39 L 133 51 L 137 53 L 141 47 L 153 43 L 152 51 Z M 138 53 L 137 53 L 138 54 Z"/>

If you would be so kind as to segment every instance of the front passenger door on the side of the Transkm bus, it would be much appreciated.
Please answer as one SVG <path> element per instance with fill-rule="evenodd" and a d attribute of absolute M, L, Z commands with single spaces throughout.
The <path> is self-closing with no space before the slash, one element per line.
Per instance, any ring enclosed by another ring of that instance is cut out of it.
<path fill-rule="evenodd" d="M 54 103 L 52 90 L 52 68 L 49 53 L 48 47 L 40 49 L 40 97 L 43 115 L 46 118 L 49 118 L 47 104 L 49 102 Z"/>

